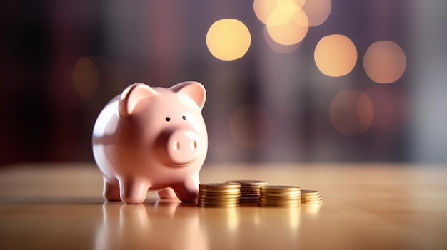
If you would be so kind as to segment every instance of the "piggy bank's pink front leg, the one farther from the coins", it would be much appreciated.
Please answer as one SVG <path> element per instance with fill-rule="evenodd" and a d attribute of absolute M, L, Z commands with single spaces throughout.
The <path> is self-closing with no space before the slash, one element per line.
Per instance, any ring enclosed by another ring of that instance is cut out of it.
<path fill-rule="evenodd" d="M 126 204 L 141 204 L 147 196 L 151 185 L 143 179 L 120 179 L 121 200 Z"/>

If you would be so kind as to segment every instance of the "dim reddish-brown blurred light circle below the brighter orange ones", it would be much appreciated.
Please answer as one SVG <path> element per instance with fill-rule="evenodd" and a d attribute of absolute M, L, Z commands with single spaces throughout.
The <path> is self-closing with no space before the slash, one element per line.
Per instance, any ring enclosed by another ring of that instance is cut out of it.
<path fill-rule="evenodd" d="M 342 90 L 331 102 L 329 117 L 333 127 L 341 134 L 360 135 L 373 123 L 373 103 L 361 91 Z"/>

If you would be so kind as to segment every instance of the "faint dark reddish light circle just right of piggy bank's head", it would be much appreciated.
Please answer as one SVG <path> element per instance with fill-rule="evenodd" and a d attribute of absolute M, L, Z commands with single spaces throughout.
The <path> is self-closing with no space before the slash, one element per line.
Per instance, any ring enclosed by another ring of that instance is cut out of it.
<path fill-rule="evenodd" d="M 229 131 L 233 141 L 241 147 L 263 147 L 271 140 L 273 119 L 261 106 L 242 105 L 231 115 Z"/>

